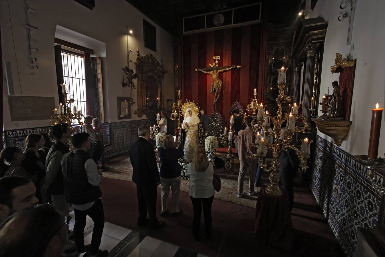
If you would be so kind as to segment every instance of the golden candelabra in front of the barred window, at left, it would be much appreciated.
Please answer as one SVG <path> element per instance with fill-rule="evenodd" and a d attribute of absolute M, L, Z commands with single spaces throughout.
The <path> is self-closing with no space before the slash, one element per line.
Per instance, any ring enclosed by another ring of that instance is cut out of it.
<path fill-rule="evenodd" d="M 72 120 L 77 120 L 79 125 L 83 125 L 84 123 L 82 119 L 84 120 L 84 115 L 81 113 L 82 112 L 81 110 L 78 110 L 76 108 L 75 105 L 73 106 L 74 113 L 72 113 L 71 107 L 69 105 L 73 104 L 75 100 L 73 98 L 71 98 L 70 100 L 67 100 L 67 92 L 65 91 L 65 84 L 63 83 L 61 84 L 61 86 L 62 86 L 62 94 L 64 96 L 64 104 L 60 103 L 58 105 L 59 109 L 55 108 L 53 110 L 54 115 L 51 116 L 50 123 L 51 125 L 55 125 L 58 123 L 67 123 L 70 130 L 72 132 L 75 132 L 77 131 L 77 129 L 71 126 Z"/>

